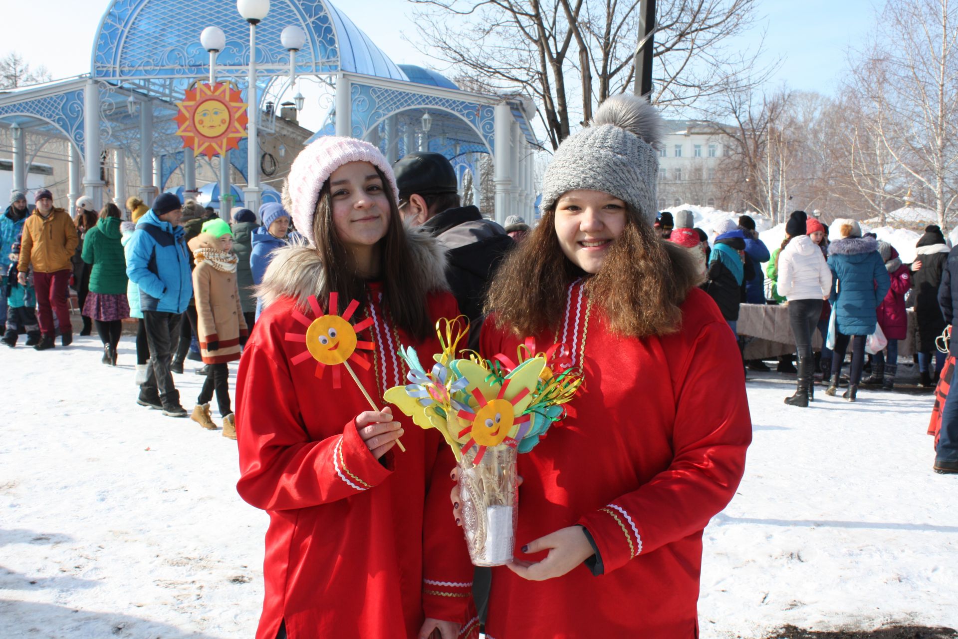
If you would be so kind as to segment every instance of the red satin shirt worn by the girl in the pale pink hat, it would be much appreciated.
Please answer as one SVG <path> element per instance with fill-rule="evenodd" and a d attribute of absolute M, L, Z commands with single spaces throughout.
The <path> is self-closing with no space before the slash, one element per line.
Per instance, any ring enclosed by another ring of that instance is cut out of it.
<path fill-rule="evenodd" d="M 400 344 L 440 349 L 435 336 L 416 343 L 395 328 L 378 287 L 369 292 L 373 325 L 359 339 L 375 343 L 373 365 L 352 366 L 376 399 L 405 383 Z M 452 452 L 394 411 L 406 452 L 376 460 L 356 432 L 354 417 L 370 407 L 353 379 L 343 371 L 335 389 L 330 367 L 318 378 L 311 357 L 291 361 L 306 350 L 286 340 L 306 331 L 293 306 L 285 298 L 262 313 L 237 380 L 237 489 L 270 519 L 257 639 L 274 639 L 284 620 L 290 639 L 416 637 L 425 617 L 475 636 L 472 567 L 449 507 Z M 445 293 L 430 296 L 428 310 L 433 321 L 459 314 Z"/>

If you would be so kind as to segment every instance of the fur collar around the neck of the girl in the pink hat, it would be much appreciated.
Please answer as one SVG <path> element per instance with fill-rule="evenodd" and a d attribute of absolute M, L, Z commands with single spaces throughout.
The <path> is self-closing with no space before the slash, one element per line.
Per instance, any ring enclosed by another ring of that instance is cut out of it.
<path fill-rule="evenodd" d="M 420 229 L 406 227 L 406 242 L 412 253 L 413 270 L 426 282 L 427 291 L 448 290 L 445 281 L 445 250 Z M 256 295 L 266 308 L 281 297 L 295 298 L 300 308 L 308 307 L 308 297 L 317 295 L 326 279 L 326 269 L 316 249 L 305 243 L 277 248 L 266 267 Z"/>

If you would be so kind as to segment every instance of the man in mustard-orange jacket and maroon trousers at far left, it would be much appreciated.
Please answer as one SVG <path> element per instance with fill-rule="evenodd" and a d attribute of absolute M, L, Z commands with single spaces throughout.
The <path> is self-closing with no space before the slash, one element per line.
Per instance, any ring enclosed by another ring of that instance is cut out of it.
<path fill-rule="evenodd" d="M 39 308 L 40 343 L 37 351 L 54 348 L 54 317 L 63 346 L 73 341 L 73 326 L 70 324 L 70 309 L 66 304 L 66 286 L 73 267 L 70 258 L 80 242 L 77 227 L 63 209 L 54 208 L 54 196 L 47 189 L 40 189 L 34 196 L 34 214 L 23 224 L 20 240 L 20 262 L 17 263 L 17 281 L 26 284 L 27 272 L 34 268 L 36 305 Z"/>

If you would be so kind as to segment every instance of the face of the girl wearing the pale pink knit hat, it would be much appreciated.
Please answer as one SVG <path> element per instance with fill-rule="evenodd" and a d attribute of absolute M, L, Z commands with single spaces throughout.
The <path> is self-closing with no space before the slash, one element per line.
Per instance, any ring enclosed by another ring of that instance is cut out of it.
<path fill-rule="evenodd" d="M 330 175 L 332 223 L 354 253 L 382 240 L 389 230 L 389 197 L 369 162 L 344 164 Z"/>

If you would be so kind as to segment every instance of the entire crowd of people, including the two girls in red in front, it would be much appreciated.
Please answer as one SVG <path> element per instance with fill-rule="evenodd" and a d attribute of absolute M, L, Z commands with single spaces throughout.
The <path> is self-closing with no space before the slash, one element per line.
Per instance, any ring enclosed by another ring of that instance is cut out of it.
<path fill-rule="evenodd" d="M 607 100 L 559 146 L 535 227 L 513 217 L 504 228 L 463 206 L 441 154 L 391 166 L 340 137 L 297 156 L 282 204 L 236 209 L 232 224 L 172 194 L 149 207 L 131 198 L 129 221 L 113 204 L 94 221 L 85 202 L 71 218 L 48 191 L 30 215 L 14 194 L 0 226 L 5 247 L 19 247 L 7 258 L 16 278 L 5 341 L 23 331 L 46 350 L 58 328 L 69 345 L 73 275 L 104 364 L 116 364 L 122 322 L 136 318 L 139 404 L 216 429 L 217 399 L 223 435 L 238 440 L 239 495 L 270 516 L 258 639 L 453 639 L 476 637 L 480 620 L 495 637 L 695 636 L 702 532 L 734 495 L 751 441 L 743 371 L 758 364 L 742 360 L 736 323 L 742 303 L 766 301 L 760 264 L 794 331 L 797 388 L 786 401 L 807 406 L 818 366 L 836 392 L 849 346 L 845 397 L 855 400 L 865 338 L 882 322 L 887 359 L 876 356 L 869 379 L 894 380 L 906 291 L 917 288 L 922 306 L 933 293 L 941 316 L 928 330 L 944 328 L 948 301 L 958 306 L 958 254 L 929 227 L 908 267 L 854 220 L 835 220 L 830 243 L 802 212 L 773 252 L 748 216 L 710 246 L 690 212 L 656 217 L 661 128 L 649 103 Z M 19 309 L 34 291 L 31 325 Z M 308 314 L 368 328 L 372 362 L 350 369 L 356 384 L 302 365 Z M 485 573 L 456 529 L 464 513 L 442 436 L 370 406 L 362 390 L 381 398 L 405 384 L 400 354 L 441 352 L 437 323 L 460 314 L 474 352 L 559 343 L 584 379 L 562 428 L 519 455 L 523 545 Z M 818 364 L 816 329 L 833 343 Z M 206 379 L 191 414 L 173 374 L 194 341 Z M 930 354 L 928 383 L 940 369 Z M 956 472 L 958 400 L 945 414 L 936 469 Z M 669 587 L 641 586 L 660 582 Z"/>

